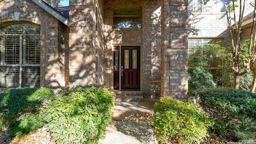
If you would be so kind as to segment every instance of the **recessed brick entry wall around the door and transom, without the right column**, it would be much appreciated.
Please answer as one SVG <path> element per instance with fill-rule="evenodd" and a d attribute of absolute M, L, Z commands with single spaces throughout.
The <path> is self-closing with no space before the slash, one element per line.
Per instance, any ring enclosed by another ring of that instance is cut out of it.
<path fill-rule="evenodd" d="M 104 84 L 112 87 L 114 45 L 141 46 L 141 90 L 144 95 L 160 94 L 162 0 L 104 0 Z M 112 28 L 114 8 L 132 6 L 142 9 L 142 28 Z"/>

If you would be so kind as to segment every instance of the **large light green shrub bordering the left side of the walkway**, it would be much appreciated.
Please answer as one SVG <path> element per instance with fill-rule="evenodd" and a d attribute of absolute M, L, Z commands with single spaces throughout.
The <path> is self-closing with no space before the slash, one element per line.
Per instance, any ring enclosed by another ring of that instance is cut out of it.
<path fill-rule="evenodd" d="M 114 95 L 104 86 L 76 86 L 56 96 L 42 111 L 59 144 L 96 144 L 105 133 Z"/>

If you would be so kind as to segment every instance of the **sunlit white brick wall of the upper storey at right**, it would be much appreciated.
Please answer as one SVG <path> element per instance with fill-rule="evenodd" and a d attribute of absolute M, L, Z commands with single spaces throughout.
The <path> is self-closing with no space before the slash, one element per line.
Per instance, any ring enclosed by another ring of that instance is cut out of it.
<path fill-rule="evenodd" d="M 216 5 L 217 6 L 217 5 Z M 250 10 L 250 2 L 246 1 L 244 12 Z M 238 8 L 237 17 L 239 15 Z M 225 12 L 190 12 L 188 18 L 188 38 L 222 38 L 223 44 L 229 41 L 228 22 Z M 238 19 L 237 19 L 238 20 Z"/>

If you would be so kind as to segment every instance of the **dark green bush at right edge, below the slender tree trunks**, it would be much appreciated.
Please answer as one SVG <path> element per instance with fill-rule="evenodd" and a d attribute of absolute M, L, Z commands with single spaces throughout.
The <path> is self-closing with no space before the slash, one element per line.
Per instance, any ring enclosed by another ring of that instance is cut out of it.
<path fill-rule="evenodd" d="M 231 88 L 198 92 L 199 104 L 215 120 L 213 130 L 235 141 L 256 136 L 256 94 Z"/>

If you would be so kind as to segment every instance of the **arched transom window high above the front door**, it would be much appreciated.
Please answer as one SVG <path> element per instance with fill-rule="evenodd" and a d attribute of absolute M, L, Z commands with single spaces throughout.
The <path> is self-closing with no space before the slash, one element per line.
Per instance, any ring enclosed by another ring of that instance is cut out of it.
<path fill-rule="evenodd" d="M 141 28 L 141 9 L 121 7 L 113 10 L 112 28 Z"/>

